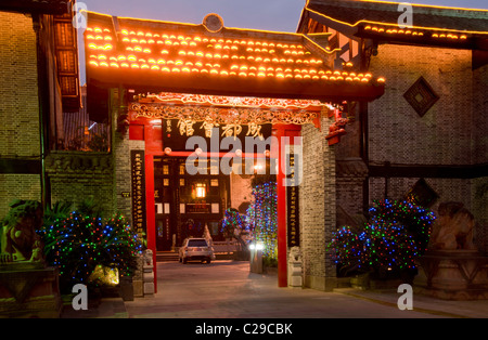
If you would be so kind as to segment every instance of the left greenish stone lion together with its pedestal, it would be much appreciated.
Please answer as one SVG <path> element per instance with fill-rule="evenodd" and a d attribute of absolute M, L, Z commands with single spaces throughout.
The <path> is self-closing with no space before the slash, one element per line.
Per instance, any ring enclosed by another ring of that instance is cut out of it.
<path fill-rule="evenodd" d="M 0 220 L 0 317 L 60 317 L 59 270 L 46 267 L 42 206 L 14 200 Z"/>

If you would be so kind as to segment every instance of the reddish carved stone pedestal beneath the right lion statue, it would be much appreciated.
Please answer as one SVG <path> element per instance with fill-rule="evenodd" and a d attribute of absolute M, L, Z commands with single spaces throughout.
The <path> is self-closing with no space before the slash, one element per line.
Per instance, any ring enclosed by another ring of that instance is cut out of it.
<path fill-rule="evenodd" d="M 488 258 L 476 250 L 431 250 L 420 264 L 420 292 L 444 300 L 488 299 Z"/>

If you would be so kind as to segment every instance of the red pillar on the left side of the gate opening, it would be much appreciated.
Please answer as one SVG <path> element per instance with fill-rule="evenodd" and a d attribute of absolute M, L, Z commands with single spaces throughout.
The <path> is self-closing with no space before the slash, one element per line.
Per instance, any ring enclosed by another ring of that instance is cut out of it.
<path fill-rule="evenodd" d="M 154 211 L 154 156 L 145 155 L 145 227 L 147 249 L 153 251 L 154 292 L 157 292 L 156 275 L 156 217 Z"/>

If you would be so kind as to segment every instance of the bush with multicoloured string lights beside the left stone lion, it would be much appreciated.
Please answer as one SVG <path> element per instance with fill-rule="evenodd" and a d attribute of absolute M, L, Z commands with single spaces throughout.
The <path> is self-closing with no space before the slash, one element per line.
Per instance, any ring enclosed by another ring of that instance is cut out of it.
<path fill-rule="evenodd" d="M 97 213 L 73 211 L 44 223 L 39 234 L 48 263 L 60 269 L 63 290 L 76 284 L 102 286 L 100 276 L 108 270 L 131 276 L 142 251 L 141 239 L 121 214 L 103 219 Z"/>

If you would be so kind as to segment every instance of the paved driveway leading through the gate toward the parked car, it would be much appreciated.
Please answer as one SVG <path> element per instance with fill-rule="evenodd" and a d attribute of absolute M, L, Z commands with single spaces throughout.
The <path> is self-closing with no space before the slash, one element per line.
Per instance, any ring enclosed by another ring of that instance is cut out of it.
<path fill-rule="evenodd" d="M 247 262 L 157 263 L 158 291 L 126 301 L 128 317 L 157 318 L 395 318 L 439 317 L 400 311 L 338 292 L 279 288 L 277 276 L 249 273 Z"/>

